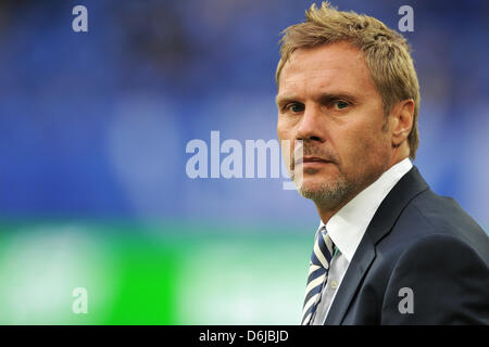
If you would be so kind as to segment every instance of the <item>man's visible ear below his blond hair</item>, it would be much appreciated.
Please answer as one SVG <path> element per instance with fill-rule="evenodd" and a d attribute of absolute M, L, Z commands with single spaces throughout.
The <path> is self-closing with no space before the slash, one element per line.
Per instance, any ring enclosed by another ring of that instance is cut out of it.
<path fill-rule="evenodd" d="M 400 101 L 390 113 L 392 146 L 398 147 L 404 142 L 413 128 L 414 100 Z"/>

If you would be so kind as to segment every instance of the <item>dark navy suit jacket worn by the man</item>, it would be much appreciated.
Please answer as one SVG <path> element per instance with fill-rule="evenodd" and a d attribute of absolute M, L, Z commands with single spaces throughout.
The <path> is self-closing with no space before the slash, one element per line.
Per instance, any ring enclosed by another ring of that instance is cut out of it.
<path fill-rule="evenodd" d="M 377 209 L 325 324 L 489 324 L 487 233 L 413 167 Z"/>

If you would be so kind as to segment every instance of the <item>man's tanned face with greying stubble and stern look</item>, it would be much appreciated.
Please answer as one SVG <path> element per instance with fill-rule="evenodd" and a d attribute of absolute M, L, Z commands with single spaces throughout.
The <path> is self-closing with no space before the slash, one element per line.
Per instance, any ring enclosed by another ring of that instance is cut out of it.
<path fill-rule="evenodd" d="M 316 204 L 338 205 L 389 168 L 383 100 L 363 53 L 349 43 L 294 51 L 280 73 L 277 106 L 279 140 L 296 152 L 303 145 L 302 162 L 291 151 L 291 176 L 302 170 L 299 191 Z"/>

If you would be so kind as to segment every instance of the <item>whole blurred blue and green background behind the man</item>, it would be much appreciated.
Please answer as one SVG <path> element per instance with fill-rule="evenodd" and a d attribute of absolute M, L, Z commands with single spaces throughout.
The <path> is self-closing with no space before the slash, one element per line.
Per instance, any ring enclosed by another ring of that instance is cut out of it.
<path fill-rule="evenodd" d="M 190 179 L 185 149 L 276 138 L 279 31 L 311 3 L 0 2 L 1 323 L 298 322 L 314 205 L 283 179 Z M 415 165 L 488 230 L 489 3 L 333 3 L 396 29 L 414 9 Z"/>

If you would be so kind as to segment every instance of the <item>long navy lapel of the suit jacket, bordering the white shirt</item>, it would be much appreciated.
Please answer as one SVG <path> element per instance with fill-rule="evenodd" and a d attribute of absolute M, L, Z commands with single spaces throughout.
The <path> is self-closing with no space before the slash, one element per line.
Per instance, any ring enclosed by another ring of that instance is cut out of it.
<path fill-rule="evenodd" d="M 383 201 L 368 224 L 363 239 L 341 281 L 325 324 L 341 324 L 359 286 L 375 259 L 375 245 L 387 235 L 408 203 L 428 189 L 428 184 L 413 167 Z"/>

